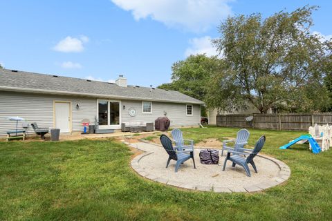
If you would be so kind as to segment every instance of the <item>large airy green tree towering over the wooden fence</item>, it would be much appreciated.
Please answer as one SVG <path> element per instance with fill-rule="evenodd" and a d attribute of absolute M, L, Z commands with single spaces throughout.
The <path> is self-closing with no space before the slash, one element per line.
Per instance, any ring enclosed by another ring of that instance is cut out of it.
<path fill-rule="evenodd" d="M 210 78 L 205 102 L 221 109 L 251 103 L 261 113 L 273 107 L 316 111 L 326 105 L 322 79 L 331 62 L 326 62 L 331 41 L 311 34 L 313 10 L 317 7 L 305 6 L 267 19 L 253 14 L 222 22 L 221 37 L 213 44 L 224 66 Z"/>

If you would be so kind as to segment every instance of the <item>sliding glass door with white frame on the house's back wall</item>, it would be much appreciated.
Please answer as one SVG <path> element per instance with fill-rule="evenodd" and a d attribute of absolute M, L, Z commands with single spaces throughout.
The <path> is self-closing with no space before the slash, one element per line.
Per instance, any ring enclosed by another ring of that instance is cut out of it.
<path fill-rule="evenodd" d="M 118 129 L 121 124 L 121 102 L 98 99 L 98 123 L 100 128 Z"/>

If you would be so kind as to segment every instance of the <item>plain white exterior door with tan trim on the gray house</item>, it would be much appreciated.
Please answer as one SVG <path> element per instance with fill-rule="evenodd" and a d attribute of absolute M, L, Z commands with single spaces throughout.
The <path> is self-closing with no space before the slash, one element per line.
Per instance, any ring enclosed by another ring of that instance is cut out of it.
<path fill-rule="evenodd" d="M 55 102 L 55 128 L 60 133 L 71 132 L 71 104 L 69 102 Z"/>

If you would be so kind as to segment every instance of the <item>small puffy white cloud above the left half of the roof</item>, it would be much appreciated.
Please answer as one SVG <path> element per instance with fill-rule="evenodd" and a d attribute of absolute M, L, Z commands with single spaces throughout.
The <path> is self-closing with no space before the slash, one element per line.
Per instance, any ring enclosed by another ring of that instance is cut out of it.
<path fill-rule="evenodd" d="M 59 41 L 59 43 L 53 47 L 53 50 L 59 52 L 82 52 L 84 50 L 84 44 L 88 41 L 89 38 L 84 35 L 80 38 L 68 36 Z"/>

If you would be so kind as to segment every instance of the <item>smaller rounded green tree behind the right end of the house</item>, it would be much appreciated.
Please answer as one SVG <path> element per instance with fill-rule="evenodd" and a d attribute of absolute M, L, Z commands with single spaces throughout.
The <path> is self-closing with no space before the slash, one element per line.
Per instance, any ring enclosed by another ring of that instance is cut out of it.
<path fill-rule="evenodd" d="M 217 57 L 190 55 L 187 59 L 173 64 L 172 83 L 162 84 L 158 88 L 177 90 L 204 101 L 210 76 L 219 70 L 220 65 L 221 61 Z"/>

